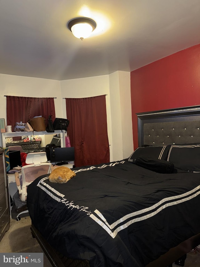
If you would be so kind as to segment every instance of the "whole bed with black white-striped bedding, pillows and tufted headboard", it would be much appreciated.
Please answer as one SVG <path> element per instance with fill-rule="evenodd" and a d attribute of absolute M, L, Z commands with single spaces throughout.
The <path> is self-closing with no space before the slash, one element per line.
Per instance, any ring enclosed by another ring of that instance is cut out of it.
<path fill-rule="evenodd" d="M 200 107 L 137 116 L 128 159 L 27 187 L 32 235 L 53 266 L 172 266 L 200 244 Z"/>

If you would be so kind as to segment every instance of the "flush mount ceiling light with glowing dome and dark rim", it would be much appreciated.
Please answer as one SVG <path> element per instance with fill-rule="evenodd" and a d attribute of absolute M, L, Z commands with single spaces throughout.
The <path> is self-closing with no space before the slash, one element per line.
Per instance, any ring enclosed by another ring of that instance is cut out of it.
<path fill-rule="evenodd" d="M 96 26 L 96 22 L 90 18 L 73 18 L 68 22 L 70 31 L 81 40 L 90 36 Z"/>

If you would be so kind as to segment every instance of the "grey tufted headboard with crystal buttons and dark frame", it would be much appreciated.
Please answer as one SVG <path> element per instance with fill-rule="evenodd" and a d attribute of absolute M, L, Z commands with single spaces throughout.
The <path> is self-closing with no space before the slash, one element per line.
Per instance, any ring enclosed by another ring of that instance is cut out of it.
<path fill-rule="evenodd" d="M 200 142 L 200 106 L 137 113 L 138 146 Z"/>

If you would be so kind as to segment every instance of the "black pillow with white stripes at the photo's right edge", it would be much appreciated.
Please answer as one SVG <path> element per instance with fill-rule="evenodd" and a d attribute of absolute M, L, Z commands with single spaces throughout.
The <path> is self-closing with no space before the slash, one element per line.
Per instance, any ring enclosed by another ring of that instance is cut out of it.
<path fill-rule="evenodd" d="M 200 172 L 200 144 L 170 146 L 167 161 L 173 162 L 175 168 Z"/>

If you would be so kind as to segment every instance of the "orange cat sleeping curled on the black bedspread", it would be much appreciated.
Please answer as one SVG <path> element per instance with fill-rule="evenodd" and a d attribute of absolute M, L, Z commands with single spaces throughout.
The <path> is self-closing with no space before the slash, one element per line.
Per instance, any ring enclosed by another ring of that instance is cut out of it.
<path fill-rule="evenodd" d="M 68 182 L 72 177 L 76 176 L 76 173 L 73 172 L 68 167 L 57 167 L 49 175 L 50 182 L 65 183 Z"/>

